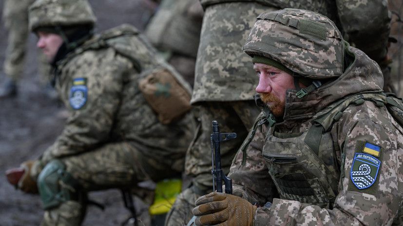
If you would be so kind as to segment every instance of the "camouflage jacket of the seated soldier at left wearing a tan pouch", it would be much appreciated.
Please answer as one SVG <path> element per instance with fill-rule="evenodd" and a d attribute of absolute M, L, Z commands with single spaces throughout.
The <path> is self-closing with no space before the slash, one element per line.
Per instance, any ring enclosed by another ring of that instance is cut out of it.
<path fill-rule="evenodd" d="M 103 36 L 117 36 L 108 41 L 120 44 L 123 51 L 106 45 L 99 38 Z M 125 57 L 129 54 L 136 57 L 135 61 Z M 192 116 L 162 124 L 139 89 L 141 71 L 157 67 L 165 66 L 155 58 L 154 48 L 130 25 L 105 31 L 58 62 L 56 88 L 70 117 L 61 135 L 43 153 L 43 164 L 106 143 L 127 141 L 157 162 L 174 164 L 182 159 L 176 170 L 183 170 L 192 139 Z"/>

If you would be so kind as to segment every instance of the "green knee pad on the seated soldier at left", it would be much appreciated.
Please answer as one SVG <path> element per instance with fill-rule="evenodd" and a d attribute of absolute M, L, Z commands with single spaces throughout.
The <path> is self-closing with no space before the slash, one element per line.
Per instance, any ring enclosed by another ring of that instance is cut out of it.
<path fill-rule="evenodd" d="M 44 209 L 51 209 L 71 200 L 71 194 L 78 187 L 78 182 L 64 163 L 58 159 L 50 161 L 38 176 L 38 191 Z"/>

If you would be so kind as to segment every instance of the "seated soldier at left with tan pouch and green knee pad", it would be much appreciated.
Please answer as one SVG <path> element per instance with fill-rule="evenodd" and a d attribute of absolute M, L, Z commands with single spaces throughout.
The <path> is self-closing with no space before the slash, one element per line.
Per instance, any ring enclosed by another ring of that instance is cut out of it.
<path fill-rule="evenodd" d="M 29 8 L 29 28 L 71 115 L 51 147 L 22 163 L 18 187 L 38 190 L 43 226 L 80 225 L 88 191 L 180 175 L 193 136 L 190 85 L 134 27 L 93 35 L 95 22 L 86 0 Z"/>

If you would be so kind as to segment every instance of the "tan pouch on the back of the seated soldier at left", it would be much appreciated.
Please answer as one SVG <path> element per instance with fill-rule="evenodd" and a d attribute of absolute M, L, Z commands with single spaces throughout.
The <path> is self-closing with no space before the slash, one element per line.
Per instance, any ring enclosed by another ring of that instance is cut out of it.
<path fill-rule="evenodd" d="M 191 93 L 170 70 L 158 68 L 144 73 L 139 81 L 140 90 L 161 123 L 177 122 L 192 108 Z"/>

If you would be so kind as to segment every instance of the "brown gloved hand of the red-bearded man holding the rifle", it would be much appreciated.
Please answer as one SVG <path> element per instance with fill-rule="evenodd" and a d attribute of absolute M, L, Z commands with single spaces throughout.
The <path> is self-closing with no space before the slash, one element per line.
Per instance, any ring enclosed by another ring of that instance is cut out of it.
<path fill-rule="evenodd" d="M 256 206 L 235 195 L 211 192 L 195 202 L 192 210 L 197 226 L 252 226 Z"/>

